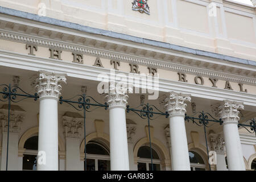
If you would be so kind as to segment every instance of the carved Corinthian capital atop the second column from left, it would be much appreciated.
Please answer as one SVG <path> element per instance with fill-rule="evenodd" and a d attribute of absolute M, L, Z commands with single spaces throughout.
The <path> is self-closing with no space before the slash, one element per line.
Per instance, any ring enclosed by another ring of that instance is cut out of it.
<path fill-rule="evenodd" d="M 110 84 L 110 93 L 105 96 L 106 102 L 109 104 L 109 108 L 119 106 L 126 107 L 127 105 L 127 88 L 118 84 Z"/>

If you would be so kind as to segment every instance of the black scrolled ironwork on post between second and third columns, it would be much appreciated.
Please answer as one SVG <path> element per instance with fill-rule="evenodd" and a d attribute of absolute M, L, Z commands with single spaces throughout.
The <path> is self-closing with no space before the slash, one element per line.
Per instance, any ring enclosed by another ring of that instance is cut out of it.
<path fill-rule="evenodd" d="M 142 107 L 142 109 L 139 109 L 139 107 Z M 156 111 L 154 111 L 154 109 L 156 109 Z M 150 156 L 151 156 L 151 171 L 154 171 L 154 167 L 153 167 L 153 158 L 152 158 L 152 146 L 151 146 L 151 137 L 150 137 L 150 120 L 154 120 L 158 117 L 154 118 L 154 115 L 165 115 L 166 118 L 169 117 L 168 112 L 163 113 L 162 111 L 160 111 L 156 106 L 154 105 L 150 105 L 150 104 L 141 104 L 135 108 L 130 108 L 129 105 L 126 106 L 126 111 L 127 113 L 129 113 L 130 111 L 133 111 L 135 114 L 137 114 L 139 117 L 141 117 L 142 119 L 147 119 L 147 125 L 148 125 L 148 137 L 150 140 Z"/>

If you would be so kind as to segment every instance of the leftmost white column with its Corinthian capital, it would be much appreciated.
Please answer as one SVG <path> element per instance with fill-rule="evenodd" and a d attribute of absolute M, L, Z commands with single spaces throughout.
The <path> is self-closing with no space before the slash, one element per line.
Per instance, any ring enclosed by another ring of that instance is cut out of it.
<path fill-rule="evenodd" d="M 36 79 L 39 94 L 39 133 L 38 133 L 38 171 L 59 170 L 58 153 L 58 101 L 64 75 L 40 72 Z"/>

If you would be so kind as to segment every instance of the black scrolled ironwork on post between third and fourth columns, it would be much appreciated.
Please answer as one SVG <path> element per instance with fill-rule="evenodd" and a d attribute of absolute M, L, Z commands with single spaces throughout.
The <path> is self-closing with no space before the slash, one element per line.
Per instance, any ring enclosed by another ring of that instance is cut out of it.
<path fill-rule="evenodd" d="M 198 117 L 194 117 L 195 115 L 198 114 Z M 209 127 L 208 124 L 209 122 L 217 122 L 222 125 L 223 121 L 222 119 L 216 119 L 212 117 L 209 113 L 204 113 L 204 111 L 197 112 L 193 114 L 191 117 L 189 117 L 187 114 L 185 114 L 185 121 L 192 121 L 192 123 L 195 123 L 197 126 L 204 126 L 204 137 L 205 137 L 205 143 L 207 146 L 207 156 L 209 160 L 209 151 L 208 151 L 208 143 L 207 143 L 207 133 L 206 133 L 206 128 Z M 209 170 L 210 169 L 210 164 L 209 164 Z"/>

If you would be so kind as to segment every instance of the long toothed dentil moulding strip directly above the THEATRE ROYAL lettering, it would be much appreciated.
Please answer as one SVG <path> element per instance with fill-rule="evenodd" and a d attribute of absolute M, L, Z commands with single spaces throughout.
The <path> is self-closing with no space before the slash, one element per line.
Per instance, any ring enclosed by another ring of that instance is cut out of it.
<path fill-rule="evenodd" d="M 7 39 L 7 40 L 14 40 L 16 42 L 22 42 L 30 45 L 33 44 L 35 46 L 54 47 L 55 49 L 65 50 L 69 52 L 84 53 L 86 55 L 95 56 L 95 57 L 104 57 L 105 59 L 110 59 L 110 60 L 117 60 L 117 61 L 122 60 L 127 63 L 146 65 L 147 67 L 167 69 L 167 70 L 180 72 L 180 73 L 190 73 L 192 75 L 197 75 L 197 77 L 205 76 L 216 81 L 220 79 L 220 80 L 238 82 L 240 84 L 241 83 L 250 84 L 250 85 L 256 84 L 255 78 L 228 75 L 222 72 L 218 72 L 217 70 L 208 71 L 207 69 L 193 68 L 190 65 L 185 66 L 185 65 L 177 65 L 173 63 L 166 63 L 160 60 L 152 60 L 152 59 L 146 59 L 146 58 L 141 59 L 138 56 L 127 56 L 126 54 L 123 54 L 123 53 L 102 51 L 101 49 L 88 48 L 85 46 L 73 46 L 72 44 L 68 44 L 68 43 L 64 44 L 59 42 L 53 42 L 51 40 L 31 38 L 29 36 L 23 36 L 23 35 L 13 34 L 9 32 L 0 32 L 0 38 Z M 166 57 L 166 56 L 162 56 L 162 57 Z M 193 59 L 191 59 L 191 61 L 193 62 Z M 80 61 L 80 63 L 82 62 Z M 214 83 L 213 83 L 213 87 L 214 87 Z M 245 92 L 245 90 L 241 90 L 241 92 Z"/>

